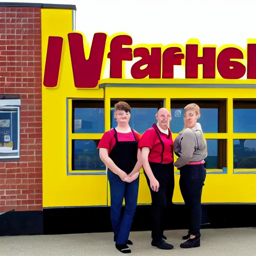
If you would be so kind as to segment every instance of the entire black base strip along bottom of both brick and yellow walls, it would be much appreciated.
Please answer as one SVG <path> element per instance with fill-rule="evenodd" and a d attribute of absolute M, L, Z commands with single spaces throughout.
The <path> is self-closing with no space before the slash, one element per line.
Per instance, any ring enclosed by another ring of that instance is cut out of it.
<path fill-rule="evenodd" d="M 150 230 L 150 205 L 138 205 L 132 231 Z M 122 208 L 124 210 L 124 207 Z M 201 228 L 256 226 L 255 204 L 202 205 Z M 165 229 L 186 229 L 185 205 L 171 205 Z M 43 211 L 10 211 L 0 215 L 0 236 L 111 232 L 110 207 L 45 208 Z"/>

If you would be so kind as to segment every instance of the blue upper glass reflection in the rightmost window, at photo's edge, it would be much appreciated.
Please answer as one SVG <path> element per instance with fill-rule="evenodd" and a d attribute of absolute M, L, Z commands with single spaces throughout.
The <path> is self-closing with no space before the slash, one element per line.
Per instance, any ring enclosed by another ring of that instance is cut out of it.
<path fill-rule="evenodd" d="M 256 132 L 256 109 L 233 109 L 233 132 Z"/>

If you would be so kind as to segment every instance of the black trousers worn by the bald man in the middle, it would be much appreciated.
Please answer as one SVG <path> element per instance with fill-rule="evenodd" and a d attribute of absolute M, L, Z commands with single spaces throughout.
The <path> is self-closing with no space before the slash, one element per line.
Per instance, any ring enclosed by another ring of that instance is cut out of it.
<path fill-rule="evenodd" d="M 151 227 L 152 239 L 161 241 L 164 230 L 164 210 L 167 204 L 172 204 L 172 195 L 174 190 L 174 167 L 173 163 L 154 163 L 149 162 L 154 177 L 159 182 L 157 192 L 150 188 L 150 181 L 145 174 L 148 187 L 151 193 Z"/>

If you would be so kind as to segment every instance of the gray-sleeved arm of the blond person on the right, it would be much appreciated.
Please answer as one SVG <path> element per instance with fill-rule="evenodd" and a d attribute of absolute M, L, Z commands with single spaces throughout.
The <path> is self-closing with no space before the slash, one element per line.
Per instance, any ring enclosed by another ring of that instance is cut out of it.
<path fill-rule="evenodd" d="M 182 137 L 180 142 L 181 151 L 178 152 L 179 157 L 174 163 L 177 168 L 186 165 L 190 161 L 195 146 L 195 136 L 192 131 L 183 132 Z"/>

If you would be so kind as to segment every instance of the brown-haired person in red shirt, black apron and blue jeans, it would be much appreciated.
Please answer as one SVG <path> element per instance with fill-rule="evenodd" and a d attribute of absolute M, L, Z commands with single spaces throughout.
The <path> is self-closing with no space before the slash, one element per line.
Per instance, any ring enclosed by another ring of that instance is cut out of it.
<path fill-rule="evenodd" d="M 130 106 L 119 101 L 114 105 L 117 126 L 106 131 L 98 143 L 99 157 L 108 167 L 110 185 L 110 215 L 115 247 L 130 253 L 127 244 L 131 223 L 137 205 L 139 169 L 142 166 L 138 140 L 140 134 L 129 126 Z M 125 210 L 121 217 L 123 198 Z"/>

